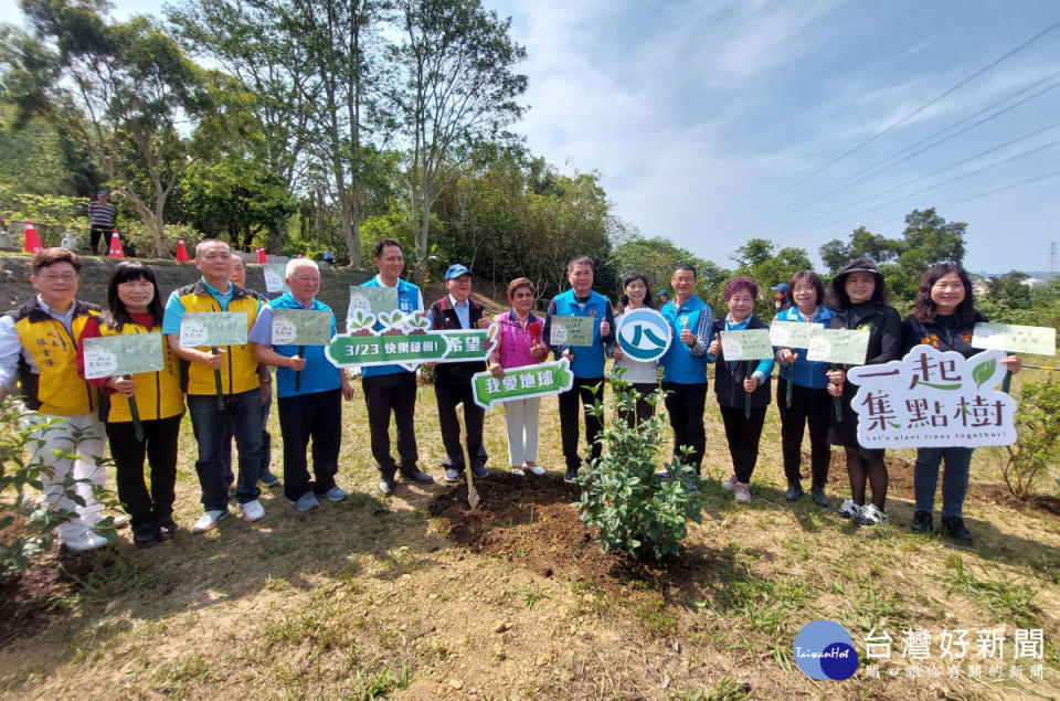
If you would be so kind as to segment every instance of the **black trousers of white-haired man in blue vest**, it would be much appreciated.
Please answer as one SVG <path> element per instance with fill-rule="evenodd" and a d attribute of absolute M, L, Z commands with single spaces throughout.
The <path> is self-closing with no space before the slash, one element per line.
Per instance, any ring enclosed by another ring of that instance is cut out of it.
<path fill-rule="evenodd" d="M 335 487 L 342 444 L 342 390 L 282 396 L 279 432 L 284 437 L 284 496 L 292 501 L 308 491 L 317 496 Z M 312 475 L 306 447 L 312 438 Z"/>

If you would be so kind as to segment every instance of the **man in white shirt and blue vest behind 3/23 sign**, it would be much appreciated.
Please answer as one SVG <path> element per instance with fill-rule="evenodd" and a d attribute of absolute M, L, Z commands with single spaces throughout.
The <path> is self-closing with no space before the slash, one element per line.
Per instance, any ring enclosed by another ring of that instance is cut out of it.
<path fill-rule="evenodd" d="M 405 315 L 423 309 L 420 288 L 401 279 L 405 258 L 401 244 L 393 238 L 380 238 L 372 248 L 372 261 L 379 275 L 361 287 L 389 287 L 398 290 L 398 309 Z M 377 328 L 382 326 L 377 321 Z M 396 331 L 395 331 L 396 332 Z M 369 333 L 368 330 L 354 333 Z M 409 481 L 430 485 L 434 478 L 420 469 L 416 461 L 416 373 L 401 365 L 372 365 L 361 371 L 361 387 L 368 405 L 368 425 L 372 437 L 372 457 L 379 468 L 379 491 L 394 491 L 394 475 L 401 471 Z M 390 454 L 390 414 L 398 424 L 399 465 Z"/>

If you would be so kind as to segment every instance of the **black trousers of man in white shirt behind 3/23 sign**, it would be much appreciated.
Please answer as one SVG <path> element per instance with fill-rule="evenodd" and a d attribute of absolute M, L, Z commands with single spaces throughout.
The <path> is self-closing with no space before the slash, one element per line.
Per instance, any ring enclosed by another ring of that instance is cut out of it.
<path fill-rule="evenodd" d="M 361 379 L 364 403 L 368 405 L 368 426 L 372 435 L 372 457 L 384 477 L 393 478 L 416 469 L 420 453 L 416 448 L 416 373 L 393 372 Z M 401 464 L 390 454 L 390 413 L 398 424 L 398 455 Z"/>

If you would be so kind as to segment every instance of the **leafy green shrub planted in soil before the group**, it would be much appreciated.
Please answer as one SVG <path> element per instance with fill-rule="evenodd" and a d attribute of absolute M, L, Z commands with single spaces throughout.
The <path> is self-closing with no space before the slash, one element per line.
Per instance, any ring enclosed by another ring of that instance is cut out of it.
<path fill-rule="evenodd" d="M 597 436 L 603 447 L 598 459 L 582 470 L 579 484 L 582 498 L 574 503 L 585 525 L 595 525 L 596 542 L 604 552 L 618 549 L 640 559 L 676 556 L 688 533 L 689 519 L 702 522 L 703 496 L 696 471 L 679 459 L 657 463 L 666 452 L 666 417 L 656 414 L 630 427 L 623 418 L 635 411 L 642 394 L 622 380 L 623 370 L 613 370 L 608 402 L 611 419 Z M 653 406 L 661 403 L 662 392 L 648 397 Z M 597 404 L 591 410 L 600 415 Z M 682 448 L 687 455 L 688 449 Z M 665 466 L 670 479 L 660 479 L 656 470 Z"/>

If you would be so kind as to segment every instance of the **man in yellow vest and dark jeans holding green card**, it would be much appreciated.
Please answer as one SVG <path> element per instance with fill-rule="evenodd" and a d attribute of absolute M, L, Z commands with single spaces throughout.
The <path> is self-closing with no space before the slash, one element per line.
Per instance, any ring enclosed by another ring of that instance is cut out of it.
<path fill-rule="evenodd" d="M 221 463 L 224 428 L 232 423 L 240 446 L 240 476 L 235 499 L 247 521 L 265 516 L 257 498 L 262 450 L 262 395 L 257 360 L 247 344 L 226 346 L 214 353 L 210 348 L 181 348 L 180 322 L 186 311 L 230 311 L 246 315 L 250 332 L 261 302 L 229 280 L 232 252 L 223 241 L 208 240 L 195 247 L 195 267 L 202 278 L 173 290 L 166 305 L 162 332 L 181 359 L 181 380 L 187 384 L 188 413 L 199 444 L 195 472 L 205 511 L 192 527 L 194 533 L 216 528 L 229 513 L 229 489 Z M 218 405 L 214 371 L 220 371 L 224 405 Z"/>

